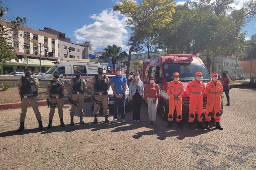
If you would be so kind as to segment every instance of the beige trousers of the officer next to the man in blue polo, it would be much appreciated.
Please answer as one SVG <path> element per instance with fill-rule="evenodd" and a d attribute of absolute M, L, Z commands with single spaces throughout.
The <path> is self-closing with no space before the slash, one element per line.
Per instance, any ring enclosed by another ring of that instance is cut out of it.
<path fill-rule="evenodd" d="M 108 115 L 108 94 L 105 95 L 95 95 L 95 100 L 97 100 L 98 102 L 101 102 L 103 105 L 103 113 L 104 115 Z M 94 102 L 94 110 L 93 110 L 93 114 L 99 114 L 99 109 L 100 109 L 100 105 L 96 104 L 96 102 Z"/>

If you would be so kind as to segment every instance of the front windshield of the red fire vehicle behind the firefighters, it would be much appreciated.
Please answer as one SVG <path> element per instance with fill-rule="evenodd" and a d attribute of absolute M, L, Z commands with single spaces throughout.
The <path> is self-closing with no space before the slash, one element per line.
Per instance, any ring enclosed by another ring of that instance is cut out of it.
<path fill-rule="evenodd" d="M 181 82 L 189 82 L 195 79 L 196 72 L 202 72 L 203 76 L 201 81 L 211 81 L 210 75 L 203 64 L 164 64 L 163 72 L 167 82 L 173 80 L 173 73 L 178 72 L 180 74 Z"/>

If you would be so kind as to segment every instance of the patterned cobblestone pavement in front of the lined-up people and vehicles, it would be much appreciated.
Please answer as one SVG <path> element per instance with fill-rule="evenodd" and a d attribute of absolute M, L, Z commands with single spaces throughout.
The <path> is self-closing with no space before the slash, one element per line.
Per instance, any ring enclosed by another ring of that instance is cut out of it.
<path fill-rule="evenodd" d="M 167 128 L 160 114 L 157 126 L 149 125 L 147 106 L 142 104 L 141 122 L 92 124 L 91 103 L 84 104 L 84 125 L 70 123 L 70 105 L 64 106 L 66 127 L 58 114 L 49 130 L 37 130 L 28 109 L 22 133 L 20 109 L 0 111 L 0 169 L 256 169 L 256 91 L 231 89 L 231 106 L 224 107 L 224 130 Z M 226 99 L 224 98 L 224 103 Z M 43 125 L 48 125 L 48 107 L 40 107 Z M 110 110 L 112 120 L 113 110 Z M 119 114 L 120 116 L 120 114 Z M 118 117 L 119 117 L 118 116 Z M 79 122 L 76 113 L 75 122 Z"/>

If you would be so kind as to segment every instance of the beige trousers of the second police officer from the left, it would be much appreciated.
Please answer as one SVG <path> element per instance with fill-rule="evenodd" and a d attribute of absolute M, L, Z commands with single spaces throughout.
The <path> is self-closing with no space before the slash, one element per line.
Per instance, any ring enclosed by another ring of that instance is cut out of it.
<path fill-rule="evenodd" d="M 53 97 L 58 97 L 59 95 L 58 94 L 52 94 Z M 63 98 L 50 98 L 50 103 L 53 105 L 53 106 L 56 106 L 57 105 L 57 108 L 58 108 L 58 113 L 59 113 L 59 118 L 63 118 L 63 106 L 64 106 L 64 101 L 63 101 Z M 54 112 L 55 112 L 55 109 L 56 108 L 52 108 L 50 107 L 50 113 L 49 113 L 49 119 L 53 119 L 53 116 L 54 116 Z"/>

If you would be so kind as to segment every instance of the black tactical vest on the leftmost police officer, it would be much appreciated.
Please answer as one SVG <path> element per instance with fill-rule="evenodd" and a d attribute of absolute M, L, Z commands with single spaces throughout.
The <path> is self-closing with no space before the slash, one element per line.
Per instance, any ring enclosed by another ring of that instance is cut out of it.
<path fill-rule="evenodd" d="M 21 86 L 21 94 L 33 94 L 36 92 L 36 84 L 34 83 L 34 78 L 26 79 L 25 77 L 21 78 L 22 86 Z"/>

